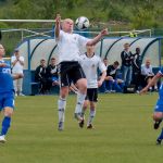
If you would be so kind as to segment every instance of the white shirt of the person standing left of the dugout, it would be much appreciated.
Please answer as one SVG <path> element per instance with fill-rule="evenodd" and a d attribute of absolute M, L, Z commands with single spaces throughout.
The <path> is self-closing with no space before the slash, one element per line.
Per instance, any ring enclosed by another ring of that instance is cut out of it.
<path fill-rule="evenodd" d="M 13 63 L 15 60 L 16 57 L 13 55 L 11 58 L 11 63 Z M 20 61 L 24 62 L 24 57 L 20 57 Z M 20 62 L 16 62 L 16 64 L 12 67 L 12 73 L 23 74 L 23 65 Z"/>

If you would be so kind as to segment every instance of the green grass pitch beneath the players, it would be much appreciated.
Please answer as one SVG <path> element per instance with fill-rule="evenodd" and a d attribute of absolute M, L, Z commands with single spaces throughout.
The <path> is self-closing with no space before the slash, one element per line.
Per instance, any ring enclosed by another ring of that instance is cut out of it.
<path fill-rule="evenodd" d="M 18 97 L 0 163 L 161 163 L 160 130 L 152 128 L 156 98 L 99 95 L 96 129 L 89 130 L 73 118 L 76 98 L 70 96 L 65 129 L 58 131 L 58 96 Z"/>

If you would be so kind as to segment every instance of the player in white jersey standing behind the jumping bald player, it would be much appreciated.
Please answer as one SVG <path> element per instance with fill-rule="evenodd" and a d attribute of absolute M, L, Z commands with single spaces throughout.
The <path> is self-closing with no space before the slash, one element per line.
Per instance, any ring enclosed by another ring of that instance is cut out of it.
<path fill-rule="evenodd" d="M 96 104 L 98 102 L 98 87 L 100 87 L 106 76 L 106 67 L 99 57 L 95 54 L 95 46 L 87 46 L 87 52 L 80 57 L 79 63 L 86 74 L 87 78 L 87 97 L 83 106 L 83 121 L 79 122 L 79 126 L 84 126 L 84 116 L 88 103 L 90 104 L 90 112 L 87 123 L 87 128 L 93 128 L 92 121 L 96 116 Z M 98 80 L 98 68 L 102 75 Z"/>

